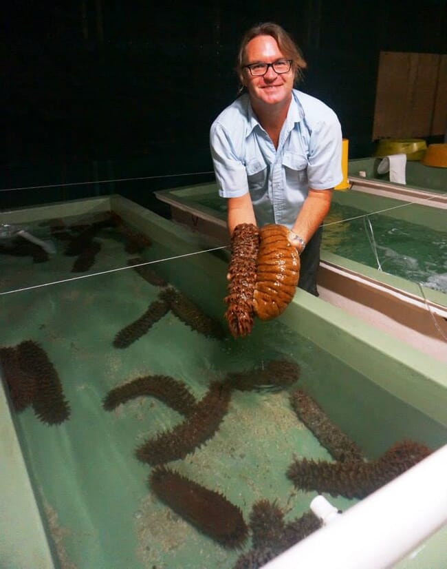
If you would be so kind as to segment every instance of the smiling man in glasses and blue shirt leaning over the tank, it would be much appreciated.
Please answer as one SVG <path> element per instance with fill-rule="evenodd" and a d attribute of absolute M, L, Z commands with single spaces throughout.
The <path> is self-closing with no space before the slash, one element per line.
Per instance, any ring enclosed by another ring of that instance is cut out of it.
<path fill-rule="evenodd" d="M 241 96 L 212 123 L 219 195 L 230 234 L 240 223 L 278 223 L 301 255 L 298 287 L 318 296 L 321 224 L 342 180 L 342 134 L 325 103 L 294 89 L 305 63 L 275 23 L 246 32 L 237 73 Z"/>

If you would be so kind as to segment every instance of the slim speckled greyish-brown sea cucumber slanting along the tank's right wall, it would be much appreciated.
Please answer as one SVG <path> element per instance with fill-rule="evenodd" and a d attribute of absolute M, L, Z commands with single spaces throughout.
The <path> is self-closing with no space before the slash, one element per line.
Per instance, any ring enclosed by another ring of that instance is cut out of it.
<path fill-rule="evenodd" d="M 290 395 L 290 404 L 298 418 L 314 433 L 331 457 L 341 462 L 364 460 L 360 448 L 329 417 L 316 402 L 302 389 L 297 389 Z"/>

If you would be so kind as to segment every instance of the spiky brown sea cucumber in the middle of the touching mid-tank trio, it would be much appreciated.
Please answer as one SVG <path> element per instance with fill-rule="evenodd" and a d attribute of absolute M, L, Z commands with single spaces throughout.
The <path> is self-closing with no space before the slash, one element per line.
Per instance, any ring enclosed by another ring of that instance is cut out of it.
<path fill-rule="evenodd" d="M 195 451 L 216 433 L 228 411 L 231 391 L 228 384 L 212 382 L 186 420 L 138 447 L 135 453 L 138 459 L 155 466 L 182 459 Z"/>

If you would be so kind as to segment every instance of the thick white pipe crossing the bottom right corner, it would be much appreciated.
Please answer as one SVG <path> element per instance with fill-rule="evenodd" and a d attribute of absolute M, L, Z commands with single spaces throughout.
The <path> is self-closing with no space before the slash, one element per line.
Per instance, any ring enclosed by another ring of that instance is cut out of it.
<path fill-rule="evenodd" d="M 447 445 L 265 569 L 385 569 L 447 524 Z"/>

